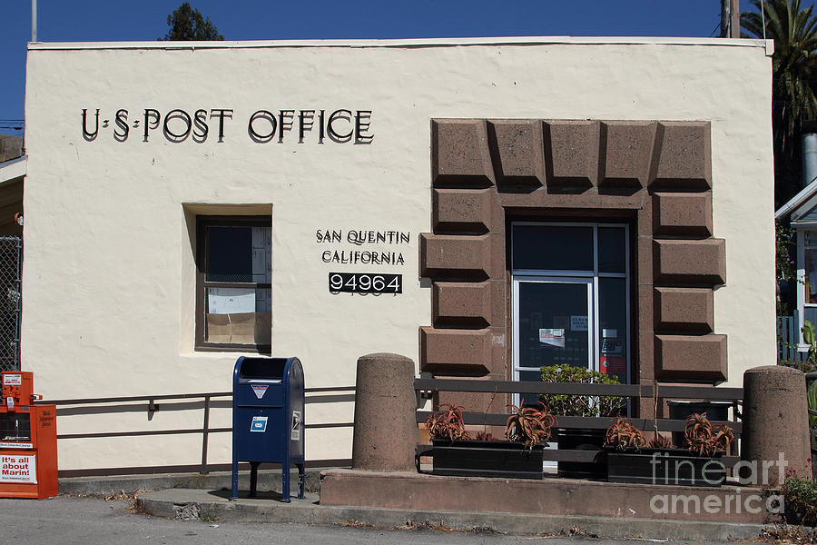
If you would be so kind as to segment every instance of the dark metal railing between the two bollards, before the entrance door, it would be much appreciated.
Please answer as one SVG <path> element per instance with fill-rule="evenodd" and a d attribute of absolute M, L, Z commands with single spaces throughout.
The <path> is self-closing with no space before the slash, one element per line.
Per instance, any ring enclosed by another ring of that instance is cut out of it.
<path fill-rule="evenodd" d="M 572 382 L 524 382 L 524 381 L 474 381 L 474 380 L 454 380 L 454 379 L 415 379 L 414 389 L 418 394 L 418 406 L 422 398 L 429 399 L 432 392 L 458 391 L 458 392 L 481 392 L 492 394 L 556 394 L 556 395 L 581 395 L 581 396 L 619 396 L 635 398 L 644 403 L 652 405 L 655 397 L 660 400 L 681 399 L 696 401 L 731 401 L 734 415 L 740 418 L 740 404 L 743 401 L 743 388 L 715 388 L 713 386 L 656 386 L 649 384 L 585 384 Z M 417 421 L 423 422 L 428 418 L 431 411 L 417 411 Z M 505 426 L 507 413 L 484 413 L 484 412 L 464 412 L 463 420 L 471 426 Z M 584 416 L 559 416 L 556 415 L 557 427 L 566 430 L 606 430 L 615 422 L 617 417 L 584 417 Z M 663 418 L 631 418 L 631 423 L 638 429 L 644 431 L 654 431 L 657 426 L 658 431 L 684 431 L 685 420 L 673 420 Z M 717 421 L 716 421 L 717 422 Z M 741 421 L 727 421 L 729 427 L 733 429 L 737 439 L 743 431 Z M 733 448 L 737 441 L 733 443 Z M 418 456 L 428 455 L 431 447 L 429 445 L 418 444 Z M 573 450 L 545 450 L 545 460 L 547 461 L 594 461 L 596 451 L 573 451 Z M 733 452 L 730 456 L 723 457 L 723 463 L 727 467 L 732 467 L 740 461 L 740 457 Z"/>

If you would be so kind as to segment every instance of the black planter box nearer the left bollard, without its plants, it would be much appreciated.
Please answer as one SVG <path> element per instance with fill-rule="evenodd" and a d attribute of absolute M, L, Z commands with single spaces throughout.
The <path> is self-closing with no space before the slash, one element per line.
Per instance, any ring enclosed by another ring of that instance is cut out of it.
<path fill-rule="evenodd" d="M 528 449 L 510 441 L 448 441 L 435 439 L 435 475 L 541 479 L 544 445 Z"/>

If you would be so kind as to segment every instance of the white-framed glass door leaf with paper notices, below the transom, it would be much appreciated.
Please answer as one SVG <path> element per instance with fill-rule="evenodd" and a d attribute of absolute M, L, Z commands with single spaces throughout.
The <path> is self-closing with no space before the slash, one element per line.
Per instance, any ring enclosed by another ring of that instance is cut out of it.
<path fill-rule="evenodd" d="M 592 278 L 515 276 L 514 379 L 538 381 L 546 365 L 593 369 L 594 306 Z"/>

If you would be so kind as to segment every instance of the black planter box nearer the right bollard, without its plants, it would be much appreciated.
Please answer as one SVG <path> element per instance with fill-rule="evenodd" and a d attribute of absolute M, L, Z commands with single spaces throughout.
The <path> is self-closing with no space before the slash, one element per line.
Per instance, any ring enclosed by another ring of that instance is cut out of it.
<path fill-rule="evenodd" d="M 682 486 L 720 486 L 726 467 L 718 460 L 684 449 L 607 450 L 607 481 Z"/>

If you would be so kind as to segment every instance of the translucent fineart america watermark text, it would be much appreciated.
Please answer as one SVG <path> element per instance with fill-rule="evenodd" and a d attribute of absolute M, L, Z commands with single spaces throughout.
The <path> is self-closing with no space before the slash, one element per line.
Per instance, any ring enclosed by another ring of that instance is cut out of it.
<path fill-rule="evenodd" d="M 670 457 L 669 454 L 655 452 L 652 460 L 653 484 L 683 484 L 683 485 L 720 485 L 723 482 L 724 466 L 718 460 L 704 462 L 700 468 L 688 459 Z M 783 484 L 786 478 L 786 466 L 783 452 L 778 454 L 777 460 L 739 461 L 734 465 L 733 475 L 737 483 L 768 487 L 774 481 Z M 655 494 L 650 499 L 650 510 L 655 514 L 758 514 L 766 510 L 769 514 L 782 515 L 784 512 L 784 498 L 782 494 L 742 493 L 739 488 L 729 494 Z"/>

